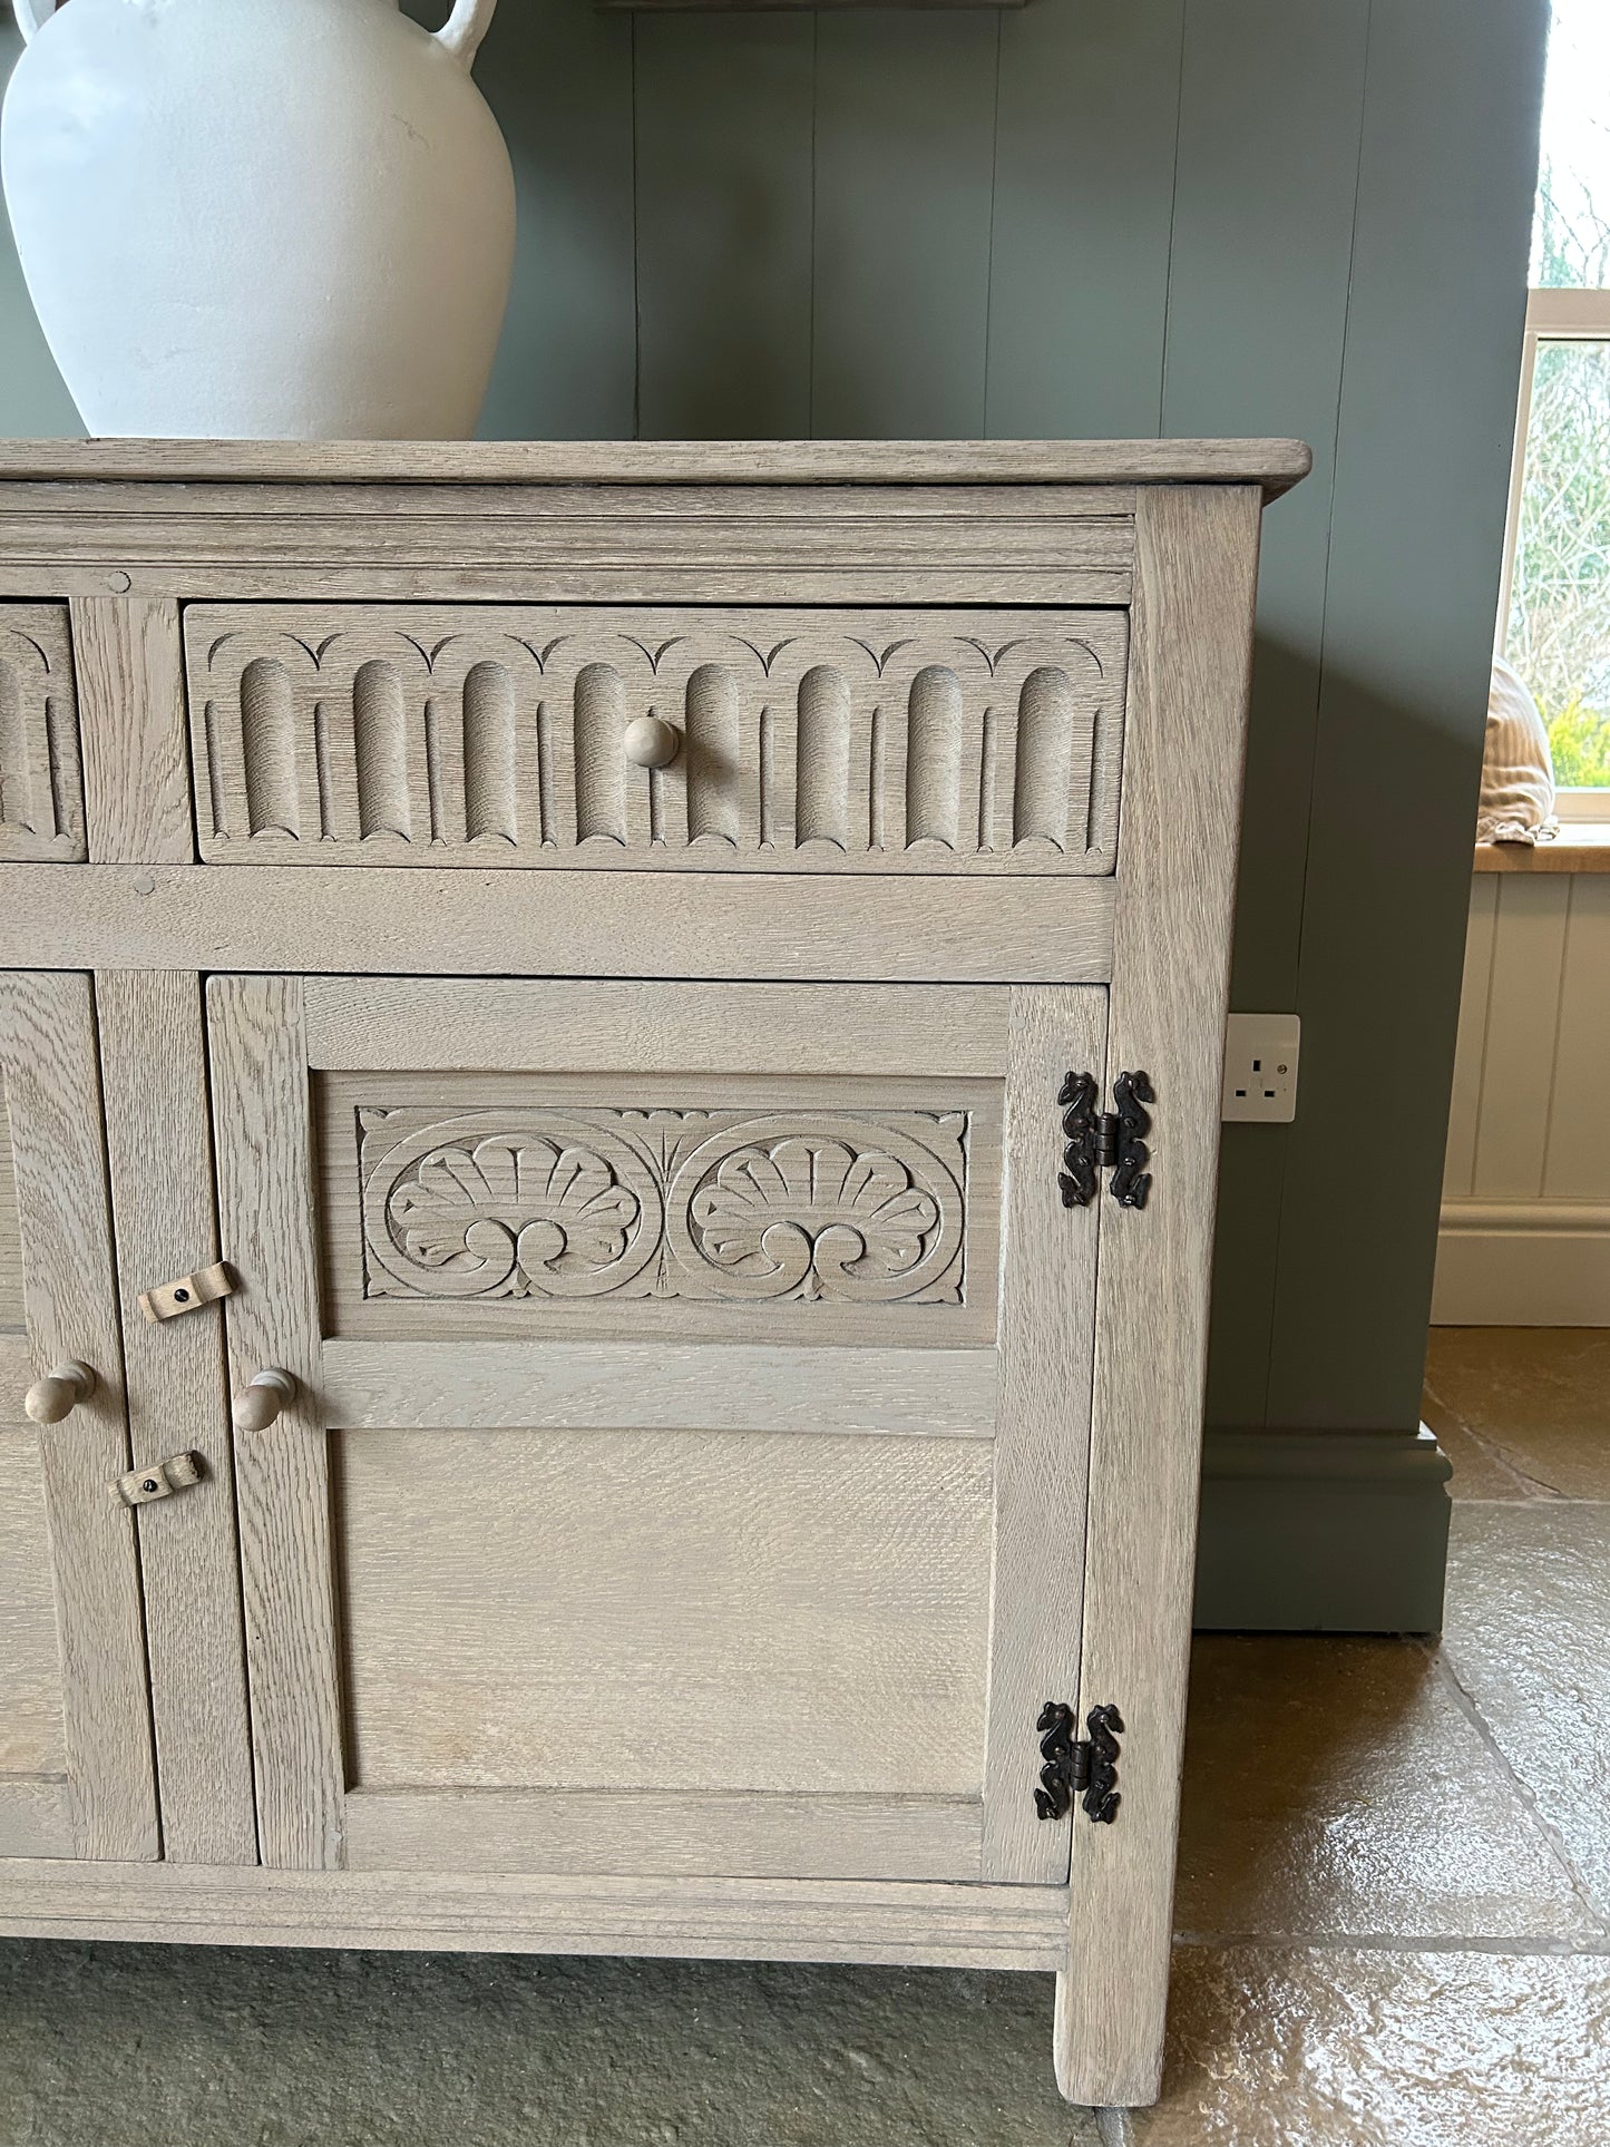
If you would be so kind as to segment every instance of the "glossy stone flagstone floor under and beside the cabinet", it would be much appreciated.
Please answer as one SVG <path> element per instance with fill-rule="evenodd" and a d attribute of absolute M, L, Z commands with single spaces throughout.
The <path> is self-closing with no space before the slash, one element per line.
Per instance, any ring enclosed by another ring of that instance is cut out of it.
<path fill-rule="evenodd" d="M 0 1941 L 0 2147 L 1610 2147 L 1610 1333 L 1428 1415 L 1440 1647 L 1198 1640 L 1155 2111 L 1037 1975 Z"/>

